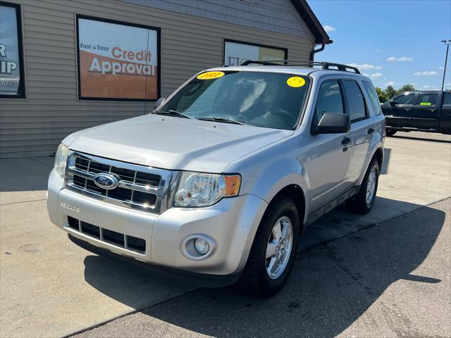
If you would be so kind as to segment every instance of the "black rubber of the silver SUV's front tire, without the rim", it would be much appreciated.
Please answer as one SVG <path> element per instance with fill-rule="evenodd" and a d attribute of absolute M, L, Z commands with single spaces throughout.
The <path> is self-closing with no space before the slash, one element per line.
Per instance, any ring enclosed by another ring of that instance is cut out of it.
<path fill-rule="evenodd" d="M 271 279 L 266 273 L 266 245 L 277 220 L 287 216 L 292 224 L 292 249 L 290 258 L 283 273 L 276 279 Z M 297 208 L 292 199 L 281 196 L 274 200 L 266 210 L 259 229 L 254 237 L 249 258 L 237 286 L 247 294 L 267 298 L 276 294 L 285 284 L 295 261 L 297 242 L 299 239 L 300 220 Z"/>

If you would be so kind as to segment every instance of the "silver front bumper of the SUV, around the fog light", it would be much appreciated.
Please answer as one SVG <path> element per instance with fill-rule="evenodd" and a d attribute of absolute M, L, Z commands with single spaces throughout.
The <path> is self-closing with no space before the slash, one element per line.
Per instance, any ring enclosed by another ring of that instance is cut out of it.
<path fill-rule="evenodd" d="M 169 208 L 161 215 L 135 211 L 64 188 L 53 170 L 47 208 L 52 223 L 75 238 L 137 261 L 192 273 L 235 275 L 244 268 L 266 202 L 253 195 L 223 199 L 207 208 Z M 144 239 L 145 251 L 133 251 L 69 226 L 68 216 L 101 229 Z M 180 242 L 192 234 L 215 239 L 216 252 L 203 261 L 183 256 Z"/>

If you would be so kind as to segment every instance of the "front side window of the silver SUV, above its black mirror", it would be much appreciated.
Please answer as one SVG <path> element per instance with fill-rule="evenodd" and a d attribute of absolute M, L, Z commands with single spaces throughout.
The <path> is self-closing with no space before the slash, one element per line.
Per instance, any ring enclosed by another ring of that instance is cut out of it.
<path fill-rule="evenodd" d="M 318 99 L 316 100 L 314 125 L 325 113 L 344 114 L 340 84 L 337 80 L 323 82 L 319 89 Z"/>

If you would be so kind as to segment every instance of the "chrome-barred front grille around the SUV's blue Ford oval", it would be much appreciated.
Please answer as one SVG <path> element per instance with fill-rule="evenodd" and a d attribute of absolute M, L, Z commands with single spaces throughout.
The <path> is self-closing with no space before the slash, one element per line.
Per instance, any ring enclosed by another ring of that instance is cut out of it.
<path fill-rule="evenodd" d="M 118 177 L 118 187 L 103 189 L 94 183 L 94 175 L 110 173 Z M 111 204 L 150 213 L 168 208 L 169 170 L 113 161 L 70 151 L 66 169 L 66 187 Z"/>

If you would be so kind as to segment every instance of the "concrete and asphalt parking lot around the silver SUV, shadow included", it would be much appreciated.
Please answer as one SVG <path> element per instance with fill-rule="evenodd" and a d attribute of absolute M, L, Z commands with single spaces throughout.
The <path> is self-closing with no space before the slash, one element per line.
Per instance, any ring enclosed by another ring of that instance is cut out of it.
<path fill-rule="evenodd" d="M 450 136 L 386 139 L 373 211 L 311 225 L 266 300 L 78 248 L 47 218 L 52 162 L 0 161 L 0 337 L 450 337 Z"/>

